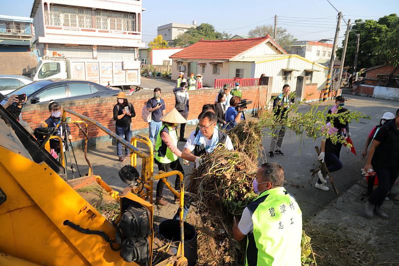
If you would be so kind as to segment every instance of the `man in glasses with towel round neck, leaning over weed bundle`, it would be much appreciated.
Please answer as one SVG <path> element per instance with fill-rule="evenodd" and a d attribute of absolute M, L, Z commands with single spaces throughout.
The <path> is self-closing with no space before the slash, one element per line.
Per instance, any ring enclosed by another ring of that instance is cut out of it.
<path fill-rule="evenodd" d="M 227 150 L 233 150 L 231 139 L 215 128 L 217 118 L 214 112 L 207 111 L 200 114 L 199 120 L 198 129 L 190 134 L 182 153 L 182 158 L 195 162 L 196 167 L 200 166 L 200 156 L 213 152 L 219 143 Z"/>

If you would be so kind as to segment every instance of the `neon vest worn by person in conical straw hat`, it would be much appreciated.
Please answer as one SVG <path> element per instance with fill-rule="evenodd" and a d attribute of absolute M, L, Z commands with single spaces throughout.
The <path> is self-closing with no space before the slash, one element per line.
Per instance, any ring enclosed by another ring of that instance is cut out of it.
<path fill-rule="evenodd" d="M 175 146 L 178 146 L 178 133 L 176 128 L 173 129 L 173 127 L 168 124 L 162 125 L 161 130 L 158 132 L 157 142 L 155 144 L 155 159 L 160 163 L 169 164 L 178 160 L 179 157 L 174 154 L 162 140 L 161 132 L 163 131 L 169 134 Z"/>

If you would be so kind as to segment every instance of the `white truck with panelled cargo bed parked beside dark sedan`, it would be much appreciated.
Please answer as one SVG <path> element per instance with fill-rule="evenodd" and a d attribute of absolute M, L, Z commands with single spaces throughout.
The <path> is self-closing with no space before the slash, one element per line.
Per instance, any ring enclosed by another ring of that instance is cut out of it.
<path fill-rule="evenodd" d="M 140 84 L 140 61 L 96 59 L 43 59 L 34 81 L 43 79 L 88 80 L 104 86 L 130 89 Z"/>

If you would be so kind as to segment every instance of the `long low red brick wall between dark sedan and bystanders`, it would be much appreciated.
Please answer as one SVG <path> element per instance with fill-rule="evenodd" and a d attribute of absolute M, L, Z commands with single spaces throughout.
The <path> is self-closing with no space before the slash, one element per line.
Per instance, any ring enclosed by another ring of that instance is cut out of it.
<path fill-rule="evenodd" d="M 264 86 L 266 87 L 266 86 Z M 190 113 L 189 120 L 196 119 L 201 112 L 202 105 L 206 103 L 214 103 L 215 97 L 219 89 L 202 89 L 196 91 L 190 91 Z M 263 95 L 267 94 L 267 88 L 263 89 Z M 253 103 L 248 105 L 248 109 L 253 109 L 254 104 L 258 102 L 258 87 L 242 88 L 242 98 L 252 100 Z M 132 119 L 136 130 L 142 130 L 148 128 L 148 124 L 145 123 L 141 117 L 141 110 L 144 106 L 144 102 L 147 102 L 152 95 L 139 95 L 139 96 L 128 96 L 129 102 L 133 103 L 136 111 L 136 117 Z M 162 98 L 166 103 L 166 111 L 172 110 L 175 107 L 175 95 L 173 93 L 163 93 Z M 107 98 L 96 98 L 87 100 L 75 100 L 62 102 L 62 106 L 87 117 L 90 117 L 103 126 L 109 128 L 115 132 L 115 120 L 113 119 L 113 107 L 116 104 L 116 97 Z M 41 121 L 44 121 L 50 116 L 47 104 L 29 104 L 23 108 L 22 119 L 30 123 L 30 127 L 35 129 L 40 125 Z M 77 117 L 72 115 L 72 120 L 79 120 Z M 79 133 L 76 126 L 70 126 L 71 133 L 73 135 L 73 141 L 83 139 L 83 135 Z M 78 134 L 79 133 L 79 134 Z M 90 138 L 100 137 L 107 135 L 105 132 L 99 130 L 96 126 L 89 123 L 88 134 Z"/>

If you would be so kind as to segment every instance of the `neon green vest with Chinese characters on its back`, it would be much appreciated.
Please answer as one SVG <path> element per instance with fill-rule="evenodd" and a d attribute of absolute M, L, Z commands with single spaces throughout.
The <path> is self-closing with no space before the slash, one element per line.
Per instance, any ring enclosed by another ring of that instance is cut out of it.
<path fill-rule="evenodd" d="M 267 190 L 247 206 L 253 222 L 247 266 L 300 266 L 302 212 L 283 187 Z"/>

